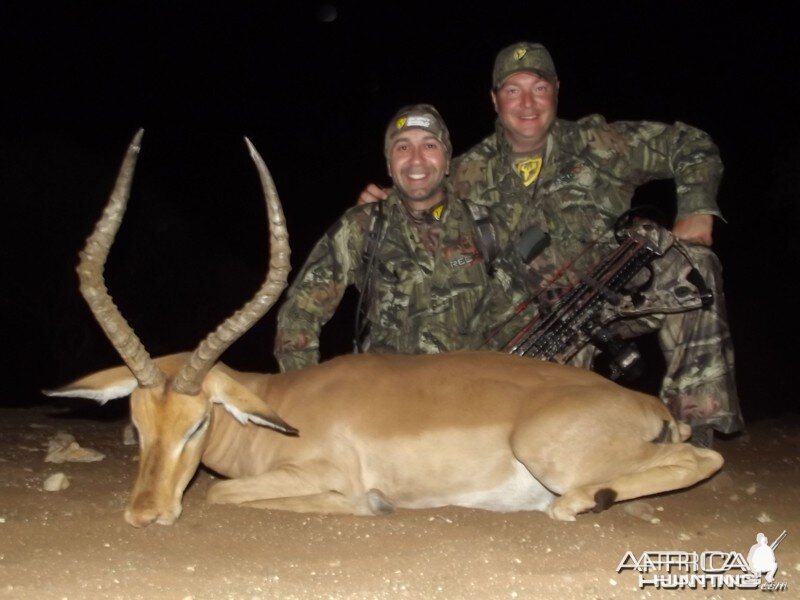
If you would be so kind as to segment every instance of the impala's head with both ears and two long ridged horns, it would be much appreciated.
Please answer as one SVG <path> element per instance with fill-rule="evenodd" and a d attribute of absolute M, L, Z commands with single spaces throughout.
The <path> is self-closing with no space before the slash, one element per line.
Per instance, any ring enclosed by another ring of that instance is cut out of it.
<path fill-rule="evenodd" d="M 183 491 L 203 455 L 213 404 L 222 405 L 242 424 L 252 422 L 297 434 L 258 396 L 214 367 L 220 355 L 275 304 L 289 273 L 289 237 L 278 194 L 249 140 L 245 138 L 264 189 L 270 231 L 270 267 L 253 298 L 194 352 L 152 359 L 108 294 L 103 270 L 125 212 L 142 134 L 139 130 L 128 147 L 103 216 L 87 239 L 78 265 L 81 293 L 126 366 L 45 391 L 100 403 L 130 395 L 140 462 L 125 519 L 136 527 L 152 522 L 169 525 L 180 516 Z"/>

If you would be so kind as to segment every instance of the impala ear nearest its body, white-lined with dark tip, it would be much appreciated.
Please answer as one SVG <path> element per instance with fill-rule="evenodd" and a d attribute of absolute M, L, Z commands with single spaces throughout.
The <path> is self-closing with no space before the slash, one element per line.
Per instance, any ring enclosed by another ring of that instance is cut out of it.
<path fill-rule="evenodd" d="M 297 436 L 297 429 L 281 419 L 267 403 L 220 369 L 212 369 L 203 381 L 212 402 L 221 404 L 242 425 L 250 422 L 286 435 Z"/>

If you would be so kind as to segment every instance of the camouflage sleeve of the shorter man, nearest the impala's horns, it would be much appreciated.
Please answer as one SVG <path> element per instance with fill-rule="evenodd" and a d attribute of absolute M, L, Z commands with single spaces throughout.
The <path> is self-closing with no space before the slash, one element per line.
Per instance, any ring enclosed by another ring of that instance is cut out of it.
<path fill-rule="evenodd" d="M 322 326 L 355 282 L 364 240 L 364 209 L 351 209 L 317 242 L 278 311 L 275 358 L 282 372 L 319 362 Z"/>

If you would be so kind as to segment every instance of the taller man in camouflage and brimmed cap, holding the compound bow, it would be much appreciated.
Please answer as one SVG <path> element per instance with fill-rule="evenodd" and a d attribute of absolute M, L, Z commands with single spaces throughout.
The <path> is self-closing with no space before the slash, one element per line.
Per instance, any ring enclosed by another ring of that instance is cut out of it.
<path fill-rule="evenodd" d="M 674 179 L 672 233 L 679 241 L 653 263 L 653 283 L 644 293 L 662 312 L 620 319 L 614 328 L 623 337 L 658 330 L 666 360 L 660 394 L 679 418 L 706 434 L 712 427 L 740 429 L 721 267 L 708 247 L 713 219 L 722 216 L 715 200 L 722 162 L 710 137 L 680 122 L 557 118 L 559 81 L 541 44 L 501 50 L 492 83 L 496 130 L 454 161 L 456 193 L 491 206 L 512 232 L 536 226 L 550 235 L 550 245 L 525 270 L 541 303 L 617 245 L 615 221 L 638 186 Z M 713 293 L 707 308 L 687 299 L 692 267 Z M 589 366 L 590 353 L 573 362 Z"/>

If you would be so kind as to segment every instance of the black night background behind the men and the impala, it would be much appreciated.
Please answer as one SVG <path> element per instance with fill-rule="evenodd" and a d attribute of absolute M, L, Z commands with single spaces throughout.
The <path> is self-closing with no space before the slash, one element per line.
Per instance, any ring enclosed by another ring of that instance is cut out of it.
<path fill-rule="evenodd" d="M 262 280 L 265 211 L 243 135 L 273 172 L 297 269 L 367 182 L 388 182 L 392 113 L 434 104 L 465 151 L 492 130 L 495 53 L 525 39 L 554 56 L 560 116 L 681 120 L 718 143 L 715 250 L 745 415 L 794 409 L 798 35 L 791 4 L 737 4 L 4 3 L 0 403 L 119 362 L 74 266 L 138 127 L 107 282 L 158 355 L 194 347 Z M 669 206 L 672 190 L 651 184 L 636 201 Z M 274 370 L 274 313 L 225 361 Z M 326 356 L 349 350 L 351 320 L 348 298 Z"/>

